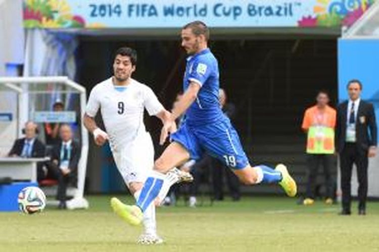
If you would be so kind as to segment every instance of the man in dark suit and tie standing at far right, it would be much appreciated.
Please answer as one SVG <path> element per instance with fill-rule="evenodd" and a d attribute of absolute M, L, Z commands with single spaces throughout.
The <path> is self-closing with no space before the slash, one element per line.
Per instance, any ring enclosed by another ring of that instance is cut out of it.
<path fill-rule="evenodd" d="M 374 157 L 377 143 L 375 113 L 371 103 L 361 100 L 362 83 L 351 80 L 347 85 L 349 100 L 337 109 L 337 150 L 341 163 L 342 212 L 350 215 L 351 172 L 353 164 L 358 175 L 358 214 L 366 214 L 368 157 Z"/>

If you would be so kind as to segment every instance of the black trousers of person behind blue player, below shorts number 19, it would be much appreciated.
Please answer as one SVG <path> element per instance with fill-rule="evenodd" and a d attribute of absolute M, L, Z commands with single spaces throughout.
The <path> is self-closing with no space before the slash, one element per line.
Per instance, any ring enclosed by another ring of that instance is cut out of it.
<path fill-rule="evenodd" d="M 219 160 L 212 158 L 211 171 L 213 178 L 213 192 L 215 200 L 222 200 L 224 198 L 223 192 L 223 176 L 225 174 L 229 193 L 233 200 L 241 198 L 240 180 L 238 177 Z"/>

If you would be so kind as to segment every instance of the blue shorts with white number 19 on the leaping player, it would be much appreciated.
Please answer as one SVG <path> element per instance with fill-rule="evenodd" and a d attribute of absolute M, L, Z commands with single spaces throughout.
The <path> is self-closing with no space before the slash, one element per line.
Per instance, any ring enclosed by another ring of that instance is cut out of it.
<path fill-rule="evenodd" d="M 206 152 L 232 169 L 242 169 L 249 164 L 238 133 L 227 118 L 196 127 L 184 122 L 171 135 L 171 140 L 181 144 L 191 159 L 198 160 Z"/>

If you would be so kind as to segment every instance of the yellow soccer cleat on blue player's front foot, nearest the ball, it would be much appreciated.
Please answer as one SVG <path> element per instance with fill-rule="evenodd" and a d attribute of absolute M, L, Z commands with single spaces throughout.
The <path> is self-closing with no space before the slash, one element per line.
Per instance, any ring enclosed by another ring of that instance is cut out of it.
<path fill-rule="evenodd" d="M 138 226 L 143 220 L 143 212 L 135 205 L 125 205 L 119 199 L 112 198 L 111 207 L 118 216 L 132 226 Z"/>

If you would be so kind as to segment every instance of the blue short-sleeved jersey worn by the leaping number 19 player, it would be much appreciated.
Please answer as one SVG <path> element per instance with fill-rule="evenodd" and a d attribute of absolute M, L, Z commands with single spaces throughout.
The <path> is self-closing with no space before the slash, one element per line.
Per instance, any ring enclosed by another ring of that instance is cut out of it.
<path fill-rule="evenodd" d="M 219 72 L 218 62 L 209 48 L 187 58 L 183 90 L 189 83 L 198 83 L 201 88 L 198 96 L 185 113 L 188 125 L 204 125 L 224 118 L 218 101 Z"/>

